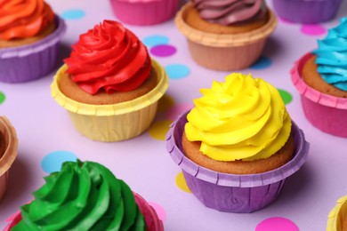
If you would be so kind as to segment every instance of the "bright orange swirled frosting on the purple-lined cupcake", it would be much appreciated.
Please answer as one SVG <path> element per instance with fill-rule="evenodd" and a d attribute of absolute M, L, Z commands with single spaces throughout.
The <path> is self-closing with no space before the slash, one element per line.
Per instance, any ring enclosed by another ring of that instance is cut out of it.
<path fill-rule="evenodd" d="M 43 0 L 0 0 L 0 39 L 36 36 L 54 20 Z"/>

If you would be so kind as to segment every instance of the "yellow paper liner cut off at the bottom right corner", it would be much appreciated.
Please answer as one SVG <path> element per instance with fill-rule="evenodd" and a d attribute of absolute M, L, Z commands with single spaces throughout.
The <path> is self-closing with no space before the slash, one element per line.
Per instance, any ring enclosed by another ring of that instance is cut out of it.
<path fill-rule="evenodd" d="M 346 219 L 347 195 L 338 199 L 335 207 L 329 212 L 329 215 L 327 216 L 327 231 L 343 230 L 343 221 Z"/>

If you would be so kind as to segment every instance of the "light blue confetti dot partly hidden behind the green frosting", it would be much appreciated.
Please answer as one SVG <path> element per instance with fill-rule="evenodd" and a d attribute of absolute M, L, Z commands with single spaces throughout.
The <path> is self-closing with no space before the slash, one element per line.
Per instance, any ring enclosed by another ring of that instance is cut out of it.
<path fill-rule="evenodd" d="M 61 170 L 61 164 L 67 161 L 76 162 L 77 156 L 68 151 L 55 151 L 44 156 L 41 162 L 42 169 L 47 173 Z"/>

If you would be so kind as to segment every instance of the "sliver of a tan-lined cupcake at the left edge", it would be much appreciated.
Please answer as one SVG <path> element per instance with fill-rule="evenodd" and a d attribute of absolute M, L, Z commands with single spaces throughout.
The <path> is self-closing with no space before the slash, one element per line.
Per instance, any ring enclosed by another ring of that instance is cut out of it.
<path fill-rule="evenodd" d="M 0 116 L 0 201 L 8 186 L 9 171 L 17 156 L 16 131 L 6 117 Z"/>

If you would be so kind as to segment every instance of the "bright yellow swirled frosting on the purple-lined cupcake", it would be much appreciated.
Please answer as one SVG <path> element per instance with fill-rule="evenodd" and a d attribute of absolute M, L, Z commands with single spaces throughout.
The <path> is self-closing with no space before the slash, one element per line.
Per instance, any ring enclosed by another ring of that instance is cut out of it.
<path fill-rule="evenodd" d="M 278 90 L 260 78 L 231 74 L 200 91 L 187 116 L 187 139 L 218 161 L 270 157 L 286 143 L 291 119 Z"/>

